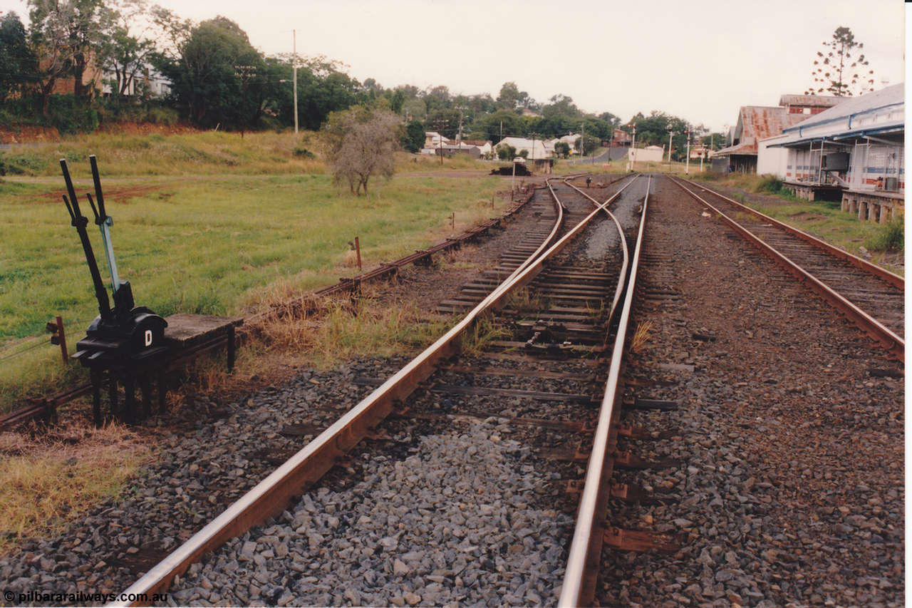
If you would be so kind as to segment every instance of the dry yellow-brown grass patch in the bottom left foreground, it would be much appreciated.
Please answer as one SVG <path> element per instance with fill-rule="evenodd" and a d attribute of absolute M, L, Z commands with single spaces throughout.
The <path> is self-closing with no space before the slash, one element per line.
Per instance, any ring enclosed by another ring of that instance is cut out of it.
<path fill-rule="evenodd" d="M 149 448 L 122 425 L 69 425 L 0 434 L 0 554 L 17 539 L 48 537 L 105 498 L 118 496 Z"/>

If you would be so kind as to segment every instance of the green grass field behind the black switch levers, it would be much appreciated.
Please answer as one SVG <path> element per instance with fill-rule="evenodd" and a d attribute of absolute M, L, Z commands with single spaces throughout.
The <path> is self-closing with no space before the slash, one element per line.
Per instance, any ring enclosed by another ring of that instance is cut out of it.
<path fill-rule="evenodd" d="M 84 215 L 91 215 L 86 159 L 98 155 L 120 278 L 130 280 L 138 304 L 163 316 L 243 314 L 276 285 L 302 291 L 357 274 L 349 246 L 355 236 L 367 269 L 509 204 L 495 196 L 492 209 L 492 194 L 508 184 L 486 176 L 488 164 L 447 159 L 441 170 L 439 161 L 404 154 L 397 176 L 372 181 L 370 194 L 356 197 L 334 185 L 320 162 L 295 156 L 302 142 L 306 137 L 291 133 L 248 134 L 243 141 L 223 133 L 98 135 L 16 152 L 31 159 L 33 170 L 0 182 L 0 411 L 79 373 L 55 361 L 59 351 L 40 337 L 47 320 L 64 318 L 72 351 L 98 314 L 60 198 L 60 155 L 69 160 Z M 187 150 L 205 153 L 194 165 L 183 156 Z M 242 161 L 226 164 L 225 157 Z M 107 278 L 98 229 L 88 228 Z"/>

